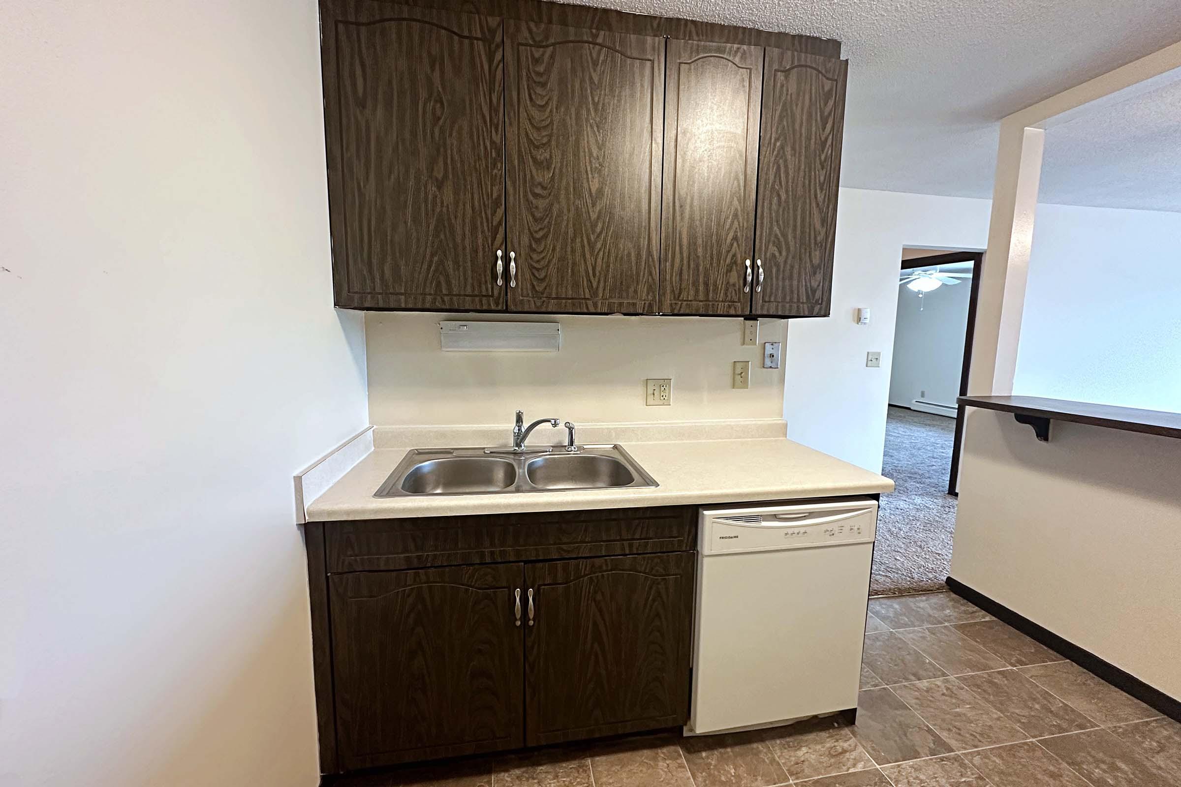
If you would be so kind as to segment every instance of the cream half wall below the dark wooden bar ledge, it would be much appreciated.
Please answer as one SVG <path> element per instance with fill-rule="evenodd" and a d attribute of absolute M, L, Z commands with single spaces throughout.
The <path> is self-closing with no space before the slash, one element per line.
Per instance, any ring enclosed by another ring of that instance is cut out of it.
<path fill-rule="evenodd" d="M 1181 697 L 1181 440 L 1050 429 L 968 408 L 952 576 Z"/>

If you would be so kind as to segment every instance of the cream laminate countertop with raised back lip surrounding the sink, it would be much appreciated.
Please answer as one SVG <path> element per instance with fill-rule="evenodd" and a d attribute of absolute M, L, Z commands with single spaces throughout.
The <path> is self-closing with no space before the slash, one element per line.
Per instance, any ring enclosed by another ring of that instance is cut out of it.
<path fill-rule="evenodd" d="M 347 472 L 306 504 L 306 520 L 753 503 L 874 494 L 894 488 L 893 481 L 877 473 L 788 440 L 781 419 L 752 419 L 579 427 L 579 442 L 621 444 L 657 479 L 660 486 L 655 488 L 373 497 L 410 448 L 504 445 L 510 431 L 510 426 L 492 425 L 373 427 L 372 450 L 359 458 L 359 452 L 353 451 L 348 460 L 335 464 L 339 470 L 352 463 Z M 554 444 L 560 445 L 566 429 L 552 432 Z M 530 440 L 530 445 L 547 442 Z"/>

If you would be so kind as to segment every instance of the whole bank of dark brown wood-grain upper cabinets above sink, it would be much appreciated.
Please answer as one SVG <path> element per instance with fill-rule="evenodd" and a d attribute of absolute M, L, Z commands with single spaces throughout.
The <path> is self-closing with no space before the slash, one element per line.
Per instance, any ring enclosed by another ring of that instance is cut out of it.
<path fill-rule="evenodd" d="M 829 314 L 837 41 L 540 0 L 320 13 L 337 306 Z"/>

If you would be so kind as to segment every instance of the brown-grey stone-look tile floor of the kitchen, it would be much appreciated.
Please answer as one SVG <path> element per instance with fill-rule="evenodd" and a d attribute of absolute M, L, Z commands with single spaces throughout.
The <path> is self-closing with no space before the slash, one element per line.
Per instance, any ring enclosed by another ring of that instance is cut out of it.
<path fill-rule="evenodd" d="M 872 599 L 856 726 L 664 733 L 348 787 L 1174 787 L 1181 724 L 951 593 Z"/>

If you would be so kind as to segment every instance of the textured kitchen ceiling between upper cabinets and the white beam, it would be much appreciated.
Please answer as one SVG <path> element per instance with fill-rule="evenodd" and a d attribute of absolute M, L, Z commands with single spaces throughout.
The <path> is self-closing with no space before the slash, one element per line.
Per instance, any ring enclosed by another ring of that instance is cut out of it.
<path fill-rule="evenodd" d="M 992 196 L 1003 117 L 1181 39 L 1177 0 L 583 5 L 840 39 L 849 59 L 841 184 L 960 197 Z"/>

